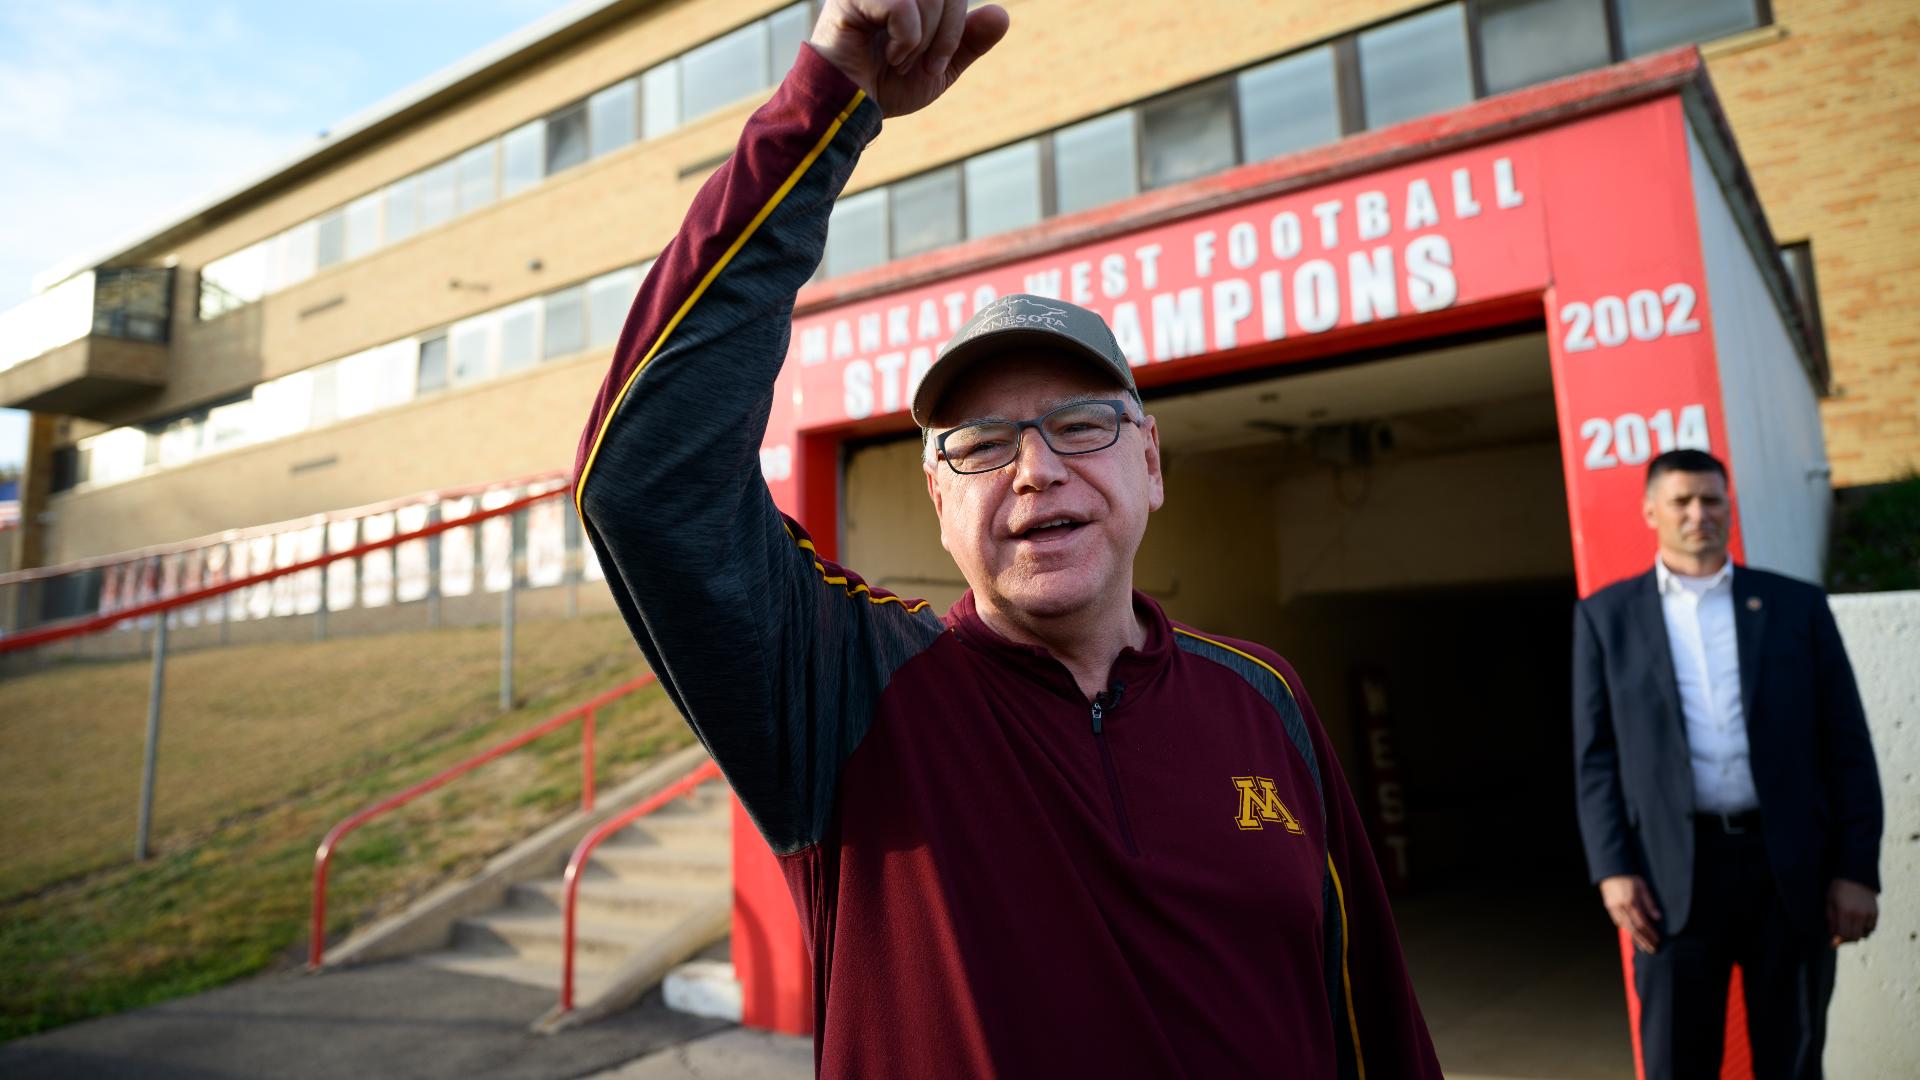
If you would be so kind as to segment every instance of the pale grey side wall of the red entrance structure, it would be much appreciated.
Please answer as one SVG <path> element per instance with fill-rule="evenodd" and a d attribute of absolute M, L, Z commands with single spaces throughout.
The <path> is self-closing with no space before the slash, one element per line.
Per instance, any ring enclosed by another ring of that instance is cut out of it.
<path fill-rule="evenodd" d="M 1820 580 L 1834 509 L 1820 404 L 1782 313 L 1734 223 L 1699 140 L 1688 135 L 1699 208 L 1707 304 L 1720 361 L 1726 448 L 1732 457 L 1745 557 L 1803 580 Z M 1772 258 L 1761 252 L 1759 258 Z"/>

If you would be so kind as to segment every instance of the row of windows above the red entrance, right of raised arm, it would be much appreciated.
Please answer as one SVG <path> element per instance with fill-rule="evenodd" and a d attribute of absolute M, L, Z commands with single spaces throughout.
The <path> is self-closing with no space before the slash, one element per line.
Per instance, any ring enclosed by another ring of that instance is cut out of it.
<path fill-rule="evenodd" d="M 1461 0 L 839 200 L 820 273 L 993 236 L 1764 21 L 1763 0 Z"/>

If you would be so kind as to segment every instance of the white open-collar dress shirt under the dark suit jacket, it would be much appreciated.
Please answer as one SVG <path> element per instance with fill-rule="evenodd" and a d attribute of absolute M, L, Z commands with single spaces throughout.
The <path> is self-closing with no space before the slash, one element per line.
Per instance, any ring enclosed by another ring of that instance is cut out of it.
<path fill-rule="evenodd" d="M 1734 632 L 1734 561 L 1713 577 L 1686 577 L 1653 559 L 1667 644 L 1680 684 L 1686 742 L 1693 765 L 1693 809 L 1759 809 L 1747 751 L 1747 711 L 1740 700 L 1740 636 Z"/>

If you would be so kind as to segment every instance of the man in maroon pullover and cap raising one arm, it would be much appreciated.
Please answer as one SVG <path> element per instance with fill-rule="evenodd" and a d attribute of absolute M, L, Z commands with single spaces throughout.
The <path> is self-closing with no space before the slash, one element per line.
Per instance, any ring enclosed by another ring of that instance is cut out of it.
<path fill-rule="evenodd" d="M 995 300 L 916 390 L 972 586 L 945 617 L 820 559 L 758 477 L 833 198 L 1006 25 L 826 4 L 634 304 L 588 534 L 781 861 L 822 1074 L 1440 1076 L 1300 676 L 1133 590 L 1160 434 L 1098 315 Z"/>

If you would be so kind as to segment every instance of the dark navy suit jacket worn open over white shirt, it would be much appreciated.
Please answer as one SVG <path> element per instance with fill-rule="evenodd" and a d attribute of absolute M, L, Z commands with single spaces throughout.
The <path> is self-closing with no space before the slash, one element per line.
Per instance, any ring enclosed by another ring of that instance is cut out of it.
<path fill-rule="evenodd" d="M 1826 594 L 1734 567 L 1740 690 L 1766 859 L 1788 915 L 1826 936 L 1834 878 L 1880 888 L 1880 774 Z M 1594 880 L 1640 874 L 1668 932 L 1693 899 L 1693 773 L 1653 571 L 1574 605 L 1572 730 Z"/>

